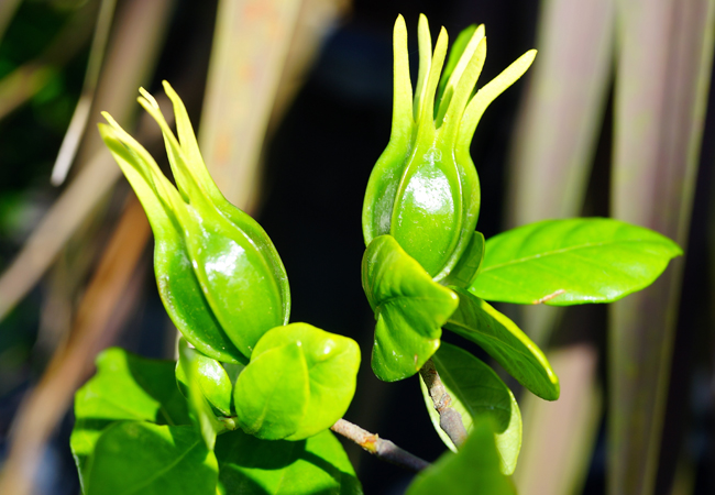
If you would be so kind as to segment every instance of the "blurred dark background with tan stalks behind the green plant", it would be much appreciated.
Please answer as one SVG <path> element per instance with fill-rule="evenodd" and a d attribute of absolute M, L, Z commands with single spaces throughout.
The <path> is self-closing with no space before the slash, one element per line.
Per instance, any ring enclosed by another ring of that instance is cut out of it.
<path fill-rule="evenodd" d="M 715 493 L 715 0 L 0 0 L 0 493 L 79 492 L 72 402 L 99 351 L 173 355 L 147 222 L 96 130 L 107 110 L 166 165 L 135 101 L 144 86 L 164 106 L 163 79 L 226 196 L 278 249 L 292 320 L 361 344 L 346 418 L 427 460 L 444 451 L 417 378 L 373 376 L 360 284 L 392 28 L 404 14 L 416 76 L 420 12 L 433 36 L 486 24 L 480 86 L 539 50 L 476 131 L 480 231 L 610 216 L 686 249 L 609 307 L 499 307 L 562 383 L 557 403 L 519 394 L 519 493 Z M 365 493 L 409 483 L 346 449 Z"/>

